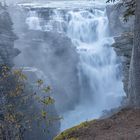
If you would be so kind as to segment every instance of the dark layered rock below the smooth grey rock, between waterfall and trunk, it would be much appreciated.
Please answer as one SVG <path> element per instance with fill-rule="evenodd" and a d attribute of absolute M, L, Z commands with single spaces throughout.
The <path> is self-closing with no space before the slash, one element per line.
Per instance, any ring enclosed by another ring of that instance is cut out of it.
<path fill-rule="evenodd" d="M 133 33 L 124 33 L 114 39 L 115 43 L 112 47 L 114 47 L 117 55 L 121 57 L 122 60 L 124 90 L 128 96 L 129 67 L 133 47 Z"/>

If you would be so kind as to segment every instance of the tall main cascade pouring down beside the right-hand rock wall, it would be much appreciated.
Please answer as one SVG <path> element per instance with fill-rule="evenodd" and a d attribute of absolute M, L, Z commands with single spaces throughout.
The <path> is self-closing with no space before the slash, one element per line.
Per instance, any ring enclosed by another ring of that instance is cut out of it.
<path fill-rule="evenodd" d="M 79 106 L 66 114 L 67 120 L 62 123 L 64 128 L 74 119 L 77 123 L 97 118 L 103 110 L 118 107 L 123 93 L 119 63 L 110 47 L 113 39 L 108 36 L 106 11 L 84 9 L 71 11 L 70 15 L 67 35 L 80 56 L 78 69 L 82 94 Z"/>

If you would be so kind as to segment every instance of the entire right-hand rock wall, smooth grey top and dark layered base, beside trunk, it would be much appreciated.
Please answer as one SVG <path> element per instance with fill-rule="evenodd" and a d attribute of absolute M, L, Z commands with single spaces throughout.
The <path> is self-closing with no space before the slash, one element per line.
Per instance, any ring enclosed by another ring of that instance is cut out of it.
<path fill-rule="evenodd" d="M 107 6 L 110 34 L 114 37 L 112 47 L 122 60 L 124 90 L 128 96 L 129 67 L 133 47 L 134 17 L 126 22 L 123 15 L 125 7 L 121 4 Z"/>

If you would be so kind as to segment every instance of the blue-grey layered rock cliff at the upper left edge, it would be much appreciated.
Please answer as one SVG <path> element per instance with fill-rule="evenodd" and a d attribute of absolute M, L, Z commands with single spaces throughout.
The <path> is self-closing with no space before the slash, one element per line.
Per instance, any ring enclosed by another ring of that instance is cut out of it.
<path fill-rule="evenodd" d="M 0 4 L 0 65 L 13 66 L 14 57 L 20 53 L 18 49 L 14 48 L 16 39 L 9 13 Z"/>

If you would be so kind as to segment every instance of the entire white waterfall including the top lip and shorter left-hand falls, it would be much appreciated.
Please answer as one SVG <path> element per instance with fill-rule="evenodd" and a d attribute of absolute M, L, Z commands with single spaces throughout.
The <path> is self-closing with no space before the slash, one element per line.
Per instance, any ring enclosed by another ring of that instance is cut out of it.
<path fill-rule="evenodd" d="M 105 5 L 89 1 L 61 1 L 20 6 L 34 8 L 26 19 L 29 29 L 65 34 L 76 46 L 80 57 L 77 66 L 80 102 L 74 110 L 63 114 L 61 130 L 99 118 L 104 110 L 118 107 L 124 91 L 120 62 L 111 48 L 113 38 L 109 37 Z M 36 8 L 52 9 L 49 20 L 39 17 Z"/>

